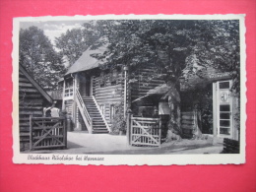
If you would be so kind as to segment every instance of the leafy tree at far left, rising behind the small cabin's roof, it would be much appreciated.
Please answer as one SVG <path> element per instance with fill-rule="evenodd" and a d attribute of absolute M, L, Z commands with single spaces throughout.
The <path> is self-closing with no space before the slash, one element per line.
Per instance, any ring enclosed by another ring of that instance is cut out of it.
<path fill-rule="evenodd" d="M 65 68 L 60 55 L 53 49 L 42 30 L 30 27 L 20 31 L 20 64 L 46 91 L 57 88 Z"/>

